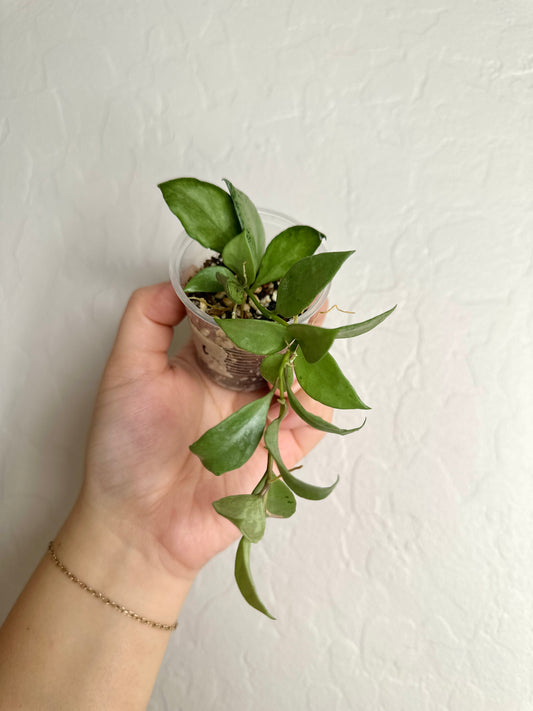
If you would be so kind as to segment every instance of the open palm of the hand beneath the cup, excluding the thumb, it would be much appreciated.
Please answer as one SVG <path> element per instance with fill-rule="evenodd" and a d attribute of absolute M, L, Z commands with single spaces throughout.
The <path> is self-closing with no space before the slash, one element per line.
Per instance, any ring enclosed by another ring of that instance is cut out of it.
<path fill-rule="evenodd" d="M 96 488 L 112 511 L 118 507 L 121 518 L 126 515 L 173 561 L 199 570 L 239 535 L 212 502 L 250 493 L 266 453 L 260 447 L 244 466 L 217 477 L 189 445 L 258 395 L 214 384 L 191 343 L 157 374 L 117 379 L 106 372 L 87 452 L 88 490 Z M 293 466 L 319 439 L 315 430 L 289 421 L 280 436 L 284 461 Z"/>

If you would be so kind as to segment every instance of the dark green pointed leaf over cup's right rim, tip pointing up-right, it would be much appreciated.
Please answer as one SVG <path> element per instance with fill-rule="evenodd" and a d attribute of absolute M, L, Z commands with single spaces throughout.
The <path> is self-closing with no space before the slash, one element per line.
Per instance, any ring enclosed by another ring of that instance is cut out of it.
<path fill-rule="evenodd" d="M 351 254 L 353 250 L 313 254 L 293 264 L 280 281 L 276 312 L 287 317 L 300 314 L 329 284 Z"/>

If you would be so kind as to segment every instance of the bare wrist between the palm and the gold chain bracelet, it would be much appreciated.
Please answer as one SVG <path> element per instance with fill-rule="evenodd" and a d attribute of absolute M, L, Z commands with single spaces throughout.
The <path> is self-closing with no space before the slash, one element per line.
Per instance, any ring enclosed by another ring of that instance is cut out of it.
<path fill-rule="evenodd" d="M 171 572 L 157 545 L 146 536 L 141 541 L 124 522 L 110 525 L 82 498 L 57 534 L 54 549 L 65 568 L 94 590 L 163 624 L 176 621 L 194 579 Z"/>

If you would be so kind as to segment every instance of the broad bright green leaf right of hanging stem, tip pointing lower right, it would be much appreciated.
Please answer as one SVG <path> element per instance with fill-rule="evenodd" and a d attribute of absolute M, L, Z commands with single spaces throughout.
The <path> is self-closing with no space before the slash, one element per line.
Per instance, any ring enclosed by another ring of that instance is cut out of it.
<path fill-rule="evenodd" d="M 326 353 L 317 363 L 308 363 L 299 347 L 296 353 L 294 372 L 302 389 L 314 400 L 341 410 L 370 410 L 330 353 Z"/>

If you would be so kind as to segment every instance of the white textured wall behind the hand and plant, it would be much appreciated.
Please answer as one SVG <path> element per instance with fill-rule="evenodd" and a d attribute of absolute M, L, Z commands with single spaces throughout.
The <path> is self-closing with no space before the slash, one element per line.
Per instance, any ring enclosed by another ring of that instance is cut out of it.
<path fill-rule="evenodd" d="M 532 709 L 533 4 L 0 13 L 2 615 L 78 490 L 127 297 L 166 277 L 157 182 L 228 177 L 357 249 L 339 305 L 399 307 L 336 350 L 373 406 L 309 457 L 336 492 L 256 553 L 278 621 L 219 556 L 151 711 Z"/>

